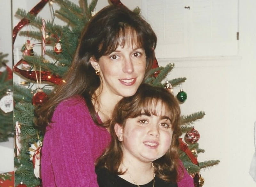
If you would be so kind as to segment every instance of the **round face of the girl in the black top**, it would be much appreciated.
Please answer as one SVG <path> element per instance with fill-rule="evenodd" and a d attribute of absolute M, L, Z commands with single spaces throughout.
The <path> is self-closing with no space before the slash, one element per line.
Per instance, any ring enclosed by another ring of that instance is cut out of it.
<path fill-rule="evenodd" d="M 128 118 L 124 127 L 115 125 L 122 145 L 124 162 L 151 162 L 162 157 L 171 146 L 172 124 L 161 102 L 156 104 L 156 115 Z"/>

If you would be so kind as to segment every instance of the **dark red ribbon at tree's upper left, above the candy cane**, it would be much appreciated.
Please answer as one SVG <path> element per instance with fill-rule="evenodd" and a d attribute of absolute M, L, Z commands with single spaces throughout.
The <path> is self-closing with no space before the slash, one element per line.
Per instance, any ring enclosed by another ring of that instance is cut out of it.
<path fill-rule="evenodd" d="M 31 15 L 36 16 L 38 14 L 39 11 L 42 10 L 42 8 L 44 8 L 44 5 L 48 2 L 49 0 L 42 0 L 40 1 L 38 4 L 36 4 L 36 6 L 34 8 L 31 9 L 31 11 L 29 11 L 29 13 Z M 28 23 L 30 23 L 30 21 L 27 18 L 23 18 L 20 20 L 20 22 L 13 28 L 13 32 L 12 32 L 12 44 L 14 44 L 14 41 L 16 39 L 16 36 L 18 34 L 18 32 L 20 31 L 20 29 L 27 25 Z"/>

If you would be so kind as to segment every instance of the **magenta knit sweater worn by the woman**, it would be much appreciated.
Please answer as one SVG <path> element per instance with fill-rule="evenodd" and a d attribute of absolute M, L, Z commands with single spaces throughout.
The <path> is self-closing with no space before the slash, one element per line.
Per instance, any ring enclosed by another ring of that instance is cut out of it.
<path fill-rule="evenodd" d="M 98 187 L 94 162 L 110 142 L 108 131 L 93 122 L 80 96 L 62 101 L 52 121 L 42 148 L 43 187 Z M 192 178 L 184 171 L 178 186 L 194 187 Z"/>

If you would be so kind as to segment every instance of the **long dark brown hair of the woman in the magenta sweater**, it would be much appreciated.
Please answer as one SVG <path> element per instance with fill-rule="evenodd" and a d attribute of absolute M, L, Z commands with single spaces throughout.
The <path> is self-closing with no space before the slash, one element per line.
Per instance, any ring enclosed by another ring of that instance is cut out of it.
<path fill-rule="evenodd" d="M 90 57 L 98 61 L 101 56 L 115 51 L 119 45 L 124 46 L 125 42 L 130 42 L 127 40 L 130 40 L 131 33 L 136 33 L 136 38 L 131 41 L 132 44 L 136 42 L 137 47 L 145 50 L 144 80 L 147 78 L 153 64 L 157 42 L 156 34 L 151 26 L 141 16 L 125 6 L 110 5 L 103 8 L 92 17 L 84 29 L 71 67 L 64 77 L 66 83 L 58 86 L 50 95 L 50 99 L 35 110 L 36 125 L 43 132 L 51 122 L 56 106 L 74 95 L 84 97 L 92 119 L 100 125 L 92 104 L 92 96 L 100 86 L 100 77 L 95 74 Z"/>

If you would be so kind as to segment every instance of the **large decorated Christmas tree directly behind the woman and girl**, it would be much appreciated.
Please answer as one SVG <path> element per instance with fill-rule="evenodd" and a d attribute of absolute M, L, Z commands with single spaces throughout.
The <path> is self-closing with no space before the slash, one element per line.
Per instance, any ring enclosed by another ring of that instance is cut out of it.
<path fill-rule="evenodd" d="M 17 64 L 14 64 L 14 71 L 25 81 L 14 84 L 14 125 L 16 130 L 16 149 L 15 149 L 15 185 L 20 182 L 27 186 L 40 185 L 38 171 L 36 171 L 35 158 L 40 155 L 41 142 L 43 141 L 42 133 L 37 130 L 34 124 L 34 108 L 36 105 L 44 102 L 51 89 L 45 89 L 46 86 L 65 84 L 62 79 L 68 70 L 73 55 L 78 44 L 84 25 L 93 16 L 97 0 L 92 0 L 90 4 L 84 0 L 80 5 L 76 5 L 68 0 L 56 0 L 54 3 L 60 5 L 60 9 L 54 12 L 52 20 L 40 18 L 37 13 L 46 3 L 52 1 L 42 0 L 29 12 L 27 10 L 18 10 L 16 15 L 21 18 L 20 22 L 13 29 L 13 41 L 20 30 L 26 24 L 37 27 L 38 31 L 22 31 L 19 36 L 29 36 L 42 44 L 42 54 L 33 50 L 34 44 L 27 41 L 23 48 L 23 57 Z M 120 1 L 112 0 L 113 4 L 121 4 Z M 52 8 L 53 10 L 53 8 Z M 138 14 L 140 9 L 134 9 Z M 65 20 L 66 25 L 60 26 L 54 23 L 55 17 Z M 47 50 L 46 47 L 47 46 Z M 177 78 L 166 80 L 167 74 L 174 68 L 174 64 L 168 64 L 165 67 L 158 67 L 155 60 L 151 75 L 146 83 L 155 86 L 166 87 L 172 91 L 172 87 L 179 86 L 186 78 Z M 40 84 L 44 82 L 44 86 Z M 164 81 L 164 82 L 163 82 Z M 34 88 L 34 84 L 36 87 Z M 187 94 L 180 91 L 177 95 L 180 102 L 187 99 Z M 204 112 L 181 117 L 181 130 L 186 133 L 186 140 L 190 143 L 187 145 L 180 139 L 180 158 L 184 163 L 188 173 L 194 177 L 195 186 L 203 185 L 203 178 L 200 178 L 200 169 L 213 166 L 219 161 L 197 161 L 197 153 L 203 153 L 204 150 L 199 148 L 197 140 L 199 133 L 191 126 L 198 119 L 203 118 Z M 38 168 L 37 168 L 38 169 Z"/>

